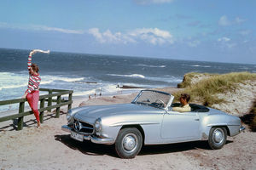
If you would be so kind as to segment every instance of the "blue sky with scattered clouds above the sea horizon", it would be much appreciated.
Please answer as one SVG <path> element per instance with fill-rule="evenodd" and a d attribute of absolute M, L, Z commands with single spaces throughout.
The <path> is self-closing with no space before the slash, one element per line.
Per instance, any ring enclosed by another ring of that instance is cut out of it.
<path fill-rule="evenodd" d="M 256 64 L 254 0 L 0 0 L 0 48 Z"/>

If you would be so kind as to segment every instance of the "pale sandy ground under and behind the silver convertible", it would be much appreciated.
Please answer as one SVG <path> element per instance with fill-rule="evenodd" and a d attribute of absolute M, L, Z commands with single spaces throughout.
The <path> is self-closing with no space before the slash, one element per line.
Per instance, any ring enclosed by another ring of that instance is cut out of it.
<path fill-rule="evenodd" d="M 177 88 L 162 88 L 173 92 Z M 137 94 L 117 94 L 74 99 L 79 105 L 130 103 Z M 80 143 L 61 131 L 67 123 L 45 112 L 44 124 L 37 128 L 34 116 L 25 117 L 25 127 L 14 129 L 15 121 L 0 123 L 0 169 L 255 169 L 256 133 L 248 130 L 228 138 L 221 150 L 210 150 L 207 142 L 144 146 L 134 159 L 120 159 L 112 145 Z"/>

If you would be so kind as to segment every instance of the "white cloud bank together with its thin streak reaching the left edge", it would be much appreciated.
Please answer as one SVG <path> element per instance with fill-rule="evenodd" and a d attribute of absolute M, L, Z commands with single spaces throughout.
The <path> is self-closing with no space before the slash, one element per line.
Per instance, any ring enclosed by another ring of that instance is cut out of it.
<path fill-rule="evenodd" d="M 169 31 L 158 28 L 140 28 L 129 32 L 112 32 L 110 30 L 101 32 L 98 28 L 91 28 L 88 31 L 70 30 L 58 27 L 39 26 L 39 25 L 14 25 L 0 22 L 0 28 L 26 30 L 26 31 L 56 31 L 65 34 L 84 34 L 88 33 L 101 43 L 136 43 L 138 41 L 148 42 L 154 45 L 169 43 L 174 39 Z"/>

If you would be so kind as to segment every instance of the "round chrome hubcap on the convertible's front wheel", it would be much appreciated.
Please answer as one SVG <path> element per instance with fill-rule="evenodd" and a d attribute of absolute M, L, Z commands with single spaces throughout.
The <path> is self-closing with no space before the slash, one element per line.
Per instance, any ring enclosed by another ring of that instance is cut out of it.
<path fill-rule="evenodd" d="M 126 134 L 123 139 L 123 147 L 127 152 L 132 152 L 137 148 L 137 136 L 133 133 Z"/>

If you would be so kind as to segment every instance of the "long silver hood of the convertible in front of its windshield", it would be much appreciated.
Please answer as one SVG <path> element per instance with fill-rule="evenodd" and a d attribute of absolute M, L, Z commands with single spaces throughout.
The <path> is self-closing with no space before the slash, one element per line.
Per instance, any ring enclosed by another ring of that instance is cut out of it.
<path fill-rule="evenodd" d="M 75 114 L 76 117 L 98 118 L 102 116 L 145 114 L 149 112 L 163 111 L 148 105 L 119 104 L 119 105 L 90 105 L 84 106 Z"/>

